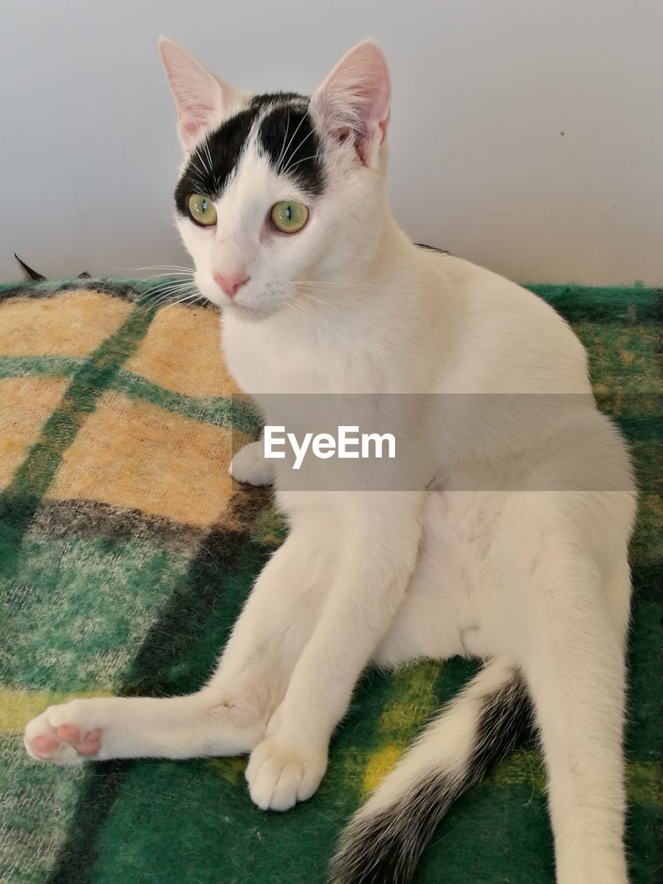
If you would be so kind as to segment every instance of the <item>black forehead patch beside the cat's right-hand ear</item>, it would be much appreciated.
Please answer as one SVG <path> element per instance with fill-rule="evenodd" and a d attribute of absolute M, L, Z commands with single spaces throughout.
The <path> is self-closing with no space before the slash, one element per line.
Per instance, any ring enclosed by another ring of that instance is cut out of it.
<path fill-rule="evenodd" d="M 316 196 L 324 190 L 322 145 L 303 101 L 298 97 L 270 110 L 260 124 L 258 142 L 274 171 L 285 172 L 298 187 Z"/>

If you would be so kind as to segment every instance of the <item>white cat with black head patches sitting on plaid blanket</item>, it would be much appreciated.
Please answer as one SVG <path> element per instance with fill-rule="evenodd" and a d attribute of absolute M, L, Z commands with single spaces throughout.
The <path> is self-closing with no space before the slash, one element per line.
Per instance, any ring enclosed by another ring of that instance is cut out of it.
<path fill-rule="evenodd" d="M 453 800 L 531 722 L 558 884 L 626 884 L 636 491 L 583 346 L 534 294 L 400 231 L 375 43 L 310 98 L 238 91 L 170 40 L 159 49 L 184 151 L 177 225 L 265 421 L 278 423 L 282 393 L 434 395 L 441 411 L 432 434 L 417 411 L 417 470 L 398 490 L 293 490 L 260 441 L 235 454 L 238 481 L 275 482 L 289 534 L 210 682 L 51 706 L 27 725 L 27 751 L 61 765 L 249 753 L 251 798 L 285 811 L 316 791 L 365 667 L 475 656 L 484 667 L 350 821 L 331 880 L 411 880 Z M 575 403 L 562 417 L 548 410 L 558 396 Z"/>

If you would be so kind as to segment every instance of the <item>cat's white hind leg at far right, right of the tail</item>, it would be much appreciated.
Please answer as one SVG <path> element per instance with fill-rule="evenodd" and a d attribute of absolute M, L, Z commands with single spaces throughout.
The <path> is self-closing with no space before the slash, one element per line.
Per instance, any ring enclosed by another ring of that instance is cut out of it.
<path fill-rule="evenodd" d="M 627 884 L 625 624 L 615 621 L 614 592 L 578 537 L 537 556 L 521 667 L 545 754 L 558 884 Z M 625 545 L 621 561 L 608 579 L 621 581 L 628 599 Z"/>

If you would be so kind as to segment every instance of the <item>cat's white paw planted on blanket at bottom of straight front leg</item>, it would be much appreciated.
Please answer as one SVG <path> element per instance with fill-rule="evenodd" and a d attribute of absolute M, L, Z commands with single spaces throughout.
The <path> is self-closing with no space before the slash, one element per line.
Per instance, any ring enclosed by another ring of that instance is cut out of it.
<path fill-rule="evenodd" d="M 263 811 L 287 811 L 314 794 L 327 769 L 327 748 L 303 747 L 278 734 L 266 737 L 251 752 L 248 791 Z"/>

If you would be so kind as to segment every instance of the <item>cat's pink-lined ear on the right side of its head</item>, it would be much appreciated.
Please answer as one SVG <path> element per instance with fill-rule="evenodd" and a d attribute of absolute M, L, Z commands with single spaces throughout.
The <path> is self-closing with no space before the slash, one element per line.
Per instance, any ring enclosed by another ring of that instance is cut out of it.
<path fill-rule="evenodd" d="M 323 133 L 339 143 L 352 139 L 357 156 L 370 166 L 385 141 L 391 94 L 385 54 L 365 40 L 341 58 L 310 106 Z"/>

